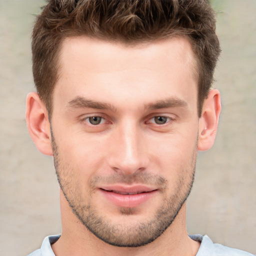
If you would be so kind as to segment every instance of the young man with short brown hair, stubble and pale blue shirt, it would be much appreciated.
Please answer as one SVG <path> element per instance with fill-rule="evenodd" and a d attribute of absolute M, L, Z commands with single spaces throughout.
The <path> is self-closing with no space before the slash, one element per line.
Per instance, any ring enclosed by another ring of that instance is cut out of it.
<path fill-rule="evenodd" d="M 53 155 L 62 232 L 30 255 L 250 255 L 186 232 L 221 108 L 219 52 L 206 0 L 49 1 L 26 120 Z"/>

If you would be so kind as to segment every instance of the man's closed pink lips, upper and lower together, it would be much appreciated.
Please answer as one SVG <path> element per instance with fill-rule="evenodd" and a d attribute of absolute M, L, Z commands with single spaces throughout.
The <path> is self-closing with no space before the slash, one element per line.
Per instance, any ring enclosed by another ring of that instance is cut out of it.
<path fill-rule="evenodd" d="M 99 187 L 101 194 L 119 207 L 136 207 L 149 200 L 157 188 L 146 185 L 105 185 Z"/>

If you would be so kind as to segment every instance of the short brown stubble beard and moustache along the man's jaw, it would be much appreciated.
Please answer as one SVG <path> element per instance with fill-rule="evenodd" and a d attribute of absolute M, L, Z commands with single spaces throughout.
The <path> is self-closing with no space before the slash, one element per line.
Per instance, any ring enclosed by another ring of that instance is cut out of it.
<path fill-rule="evenodd" d="M 75 182 L 78 182 L 78 180 L 72 180 L 75 172 L 72 167 L 69 166 L 68 163 L 64 163 L 63 159 L 60 157 L 53 134 L 51 135 L 57 179 L 60 189 L 72 212 L 91 233 L 108 244 L 120 247 L 137 247 L 152 242 L 172 224 L 191 191 L 196 163 L 196 148 L 191 159 L 191 168 L 189 170 L 180 170 L 180 173 L 183 173 L 183 175 L 181 175 L 177 181 L 178 185 L 175 189 L 175 193 L 169 195 L 168 198 L 166 198 L 166 194 L 162 195 L 163 202 L 151 219 L 145 219 L 139 223 L 136 222 L 135 224 L 129 225 L 129 217 L 136 214 L 136 209 L 120 207 L 119 213 L 126 215 L 127 221 L 115 223 L 112 219 L 100 216 L 91 201 L 84 199 L 85 196 L 90 197 L 91 192 L 84 196 L 81 192 L 75 190 Z M 63 174 L 63 172 L 65 172 L 65 174 Z M 66 175 L 66 173 L 69 173 L 69 175 Z M 89 183 L 93 184 L 93 182 L 98 181 L 100 178 L 101 180 L 105 179 L 105 177 L 95 176 Z M 166 180 L 158 175 L 135 173 L 127 177 L 120 174 L 111 176 L 108 180 L 110 181 L 110 179 L 124 183 L 141 181 L 146 184 L 154 183 L 168 190 Z"/>

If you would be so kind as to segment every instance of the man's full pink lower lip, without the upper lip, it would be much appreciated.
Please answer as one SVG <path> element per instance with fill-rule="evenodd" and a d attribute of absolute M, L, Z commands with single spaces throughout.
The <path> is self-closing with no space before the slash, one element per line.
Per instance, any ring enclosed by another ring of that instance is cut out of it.
<path fill-rule="evenodd" d="M 118 194 L 103 189 L 100 192 L 113 204 L 119 207 L 136 207 L 150 199 L 157 190 L 139 194 Z"/>

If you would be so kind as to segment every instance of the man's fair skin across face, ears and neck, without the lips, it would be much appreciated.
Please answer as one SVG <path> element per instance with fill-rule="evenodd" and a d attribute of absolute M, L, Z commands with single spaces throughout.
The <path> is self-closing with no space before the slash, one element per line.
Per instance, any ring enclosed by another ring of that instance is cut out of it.
<path fill-rule="evenodd" d="M 212 89 L 198 118 L 189 41 L 127 46 L 74 37 L 64 40 L 59 61 L 51 122 L 36 93 L 28 94 L 26 112 L 37 148 L 54 156 L 61 187 L 62 233 L 54 253 L 195 255 L 199 244 L 187 236 L 183 201 L 197 150 L 214 142 L 220 96 Z M 90 123 L 93 116 L 98 124 Z M 116 184 L 146 185 L 154 192 L 136 206 L 118 206 L 102 193 Z M 97 230 L 95 219 L 101 221 Z M 165 231 L 148 229 L 155 223 Z M 125 247 L 138 240 L 147 244 Z"/>

